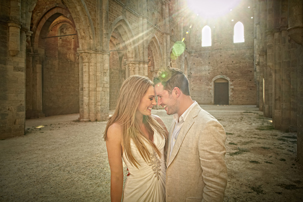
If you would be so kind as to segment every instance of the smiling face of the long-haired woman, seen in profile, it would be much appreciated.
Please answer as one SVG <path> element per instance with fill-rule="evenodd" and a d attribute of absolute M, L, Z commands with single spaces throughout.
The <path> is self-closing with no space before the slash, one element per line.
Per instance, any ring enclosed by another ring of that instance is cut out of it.
<path fill-rule="evenodd" d="M 146 93 L 143 95 L 142 99 L 140 100 L 136 115 L 151 115 L 151 108 L 156 105 L 155 99 L 155 89 L 154 86 L 149 86 Z"/>

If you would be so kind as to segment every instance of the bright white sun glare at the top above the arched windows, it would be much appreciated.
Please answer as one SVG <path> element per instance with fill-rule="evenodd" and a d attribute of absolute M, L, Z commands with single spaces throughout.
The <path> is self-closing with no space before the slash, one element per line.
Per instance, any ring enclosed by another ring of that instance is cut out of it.
<path fill-rule="evenodd" d="M 217 18 L 231 12 L 241 0 L 187 0 L 188 8 L 204 18 Z"/>

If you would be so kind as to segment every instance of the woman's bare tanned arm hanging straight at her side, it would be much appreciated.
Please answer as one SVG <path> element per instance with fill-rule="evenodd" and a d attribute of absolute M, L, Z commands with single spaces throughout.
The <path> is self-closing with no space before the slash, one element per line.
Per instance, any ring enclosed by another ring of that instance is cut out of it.
<path fill-rule="evenodd" d="M 111 125 L 107 131 L 106 147 L 111 168 L 111 201 L 121 201 L 123 189 L 122 164 L 122 134 L 123 127 L 117 123 Z"/>

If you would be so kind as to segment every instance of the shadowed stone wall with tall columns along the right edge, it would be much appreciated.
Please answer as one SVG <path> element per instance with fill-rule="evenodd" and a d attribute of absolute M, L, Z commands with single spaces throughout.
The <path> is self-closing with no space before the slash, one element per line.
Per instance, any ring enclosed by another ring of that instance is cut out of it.
<path fill-rule="evenodd" d="M 297 131 L 297 157 L 303 162 L 302 44 L 303 2 L 255 2 L 255 69 L 258 107 L 273 126 Z"/>

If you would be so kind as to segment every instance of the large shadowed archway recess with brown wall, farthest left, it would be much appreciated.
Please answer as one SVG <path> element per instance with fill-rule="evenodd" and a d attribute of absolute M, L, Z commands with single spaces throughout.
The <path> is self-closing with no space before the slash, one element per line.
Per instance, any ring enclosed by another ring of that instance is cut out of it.
<path fill-rule="evenodd" d="M 26 118 L 79 113 L 79 42 L 71 14 L 54 7 L 36 23 L 26 48 Z"/>

